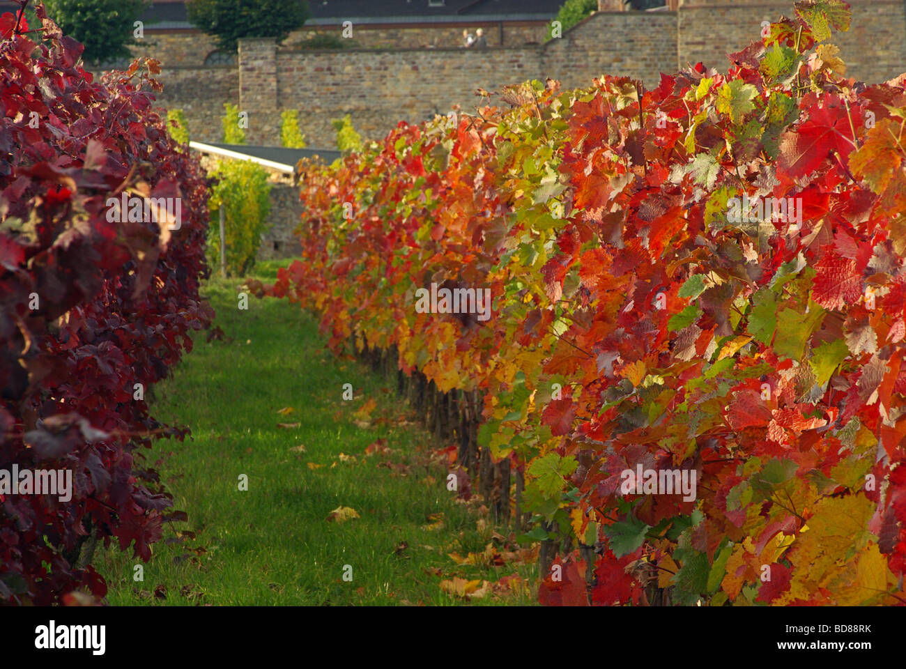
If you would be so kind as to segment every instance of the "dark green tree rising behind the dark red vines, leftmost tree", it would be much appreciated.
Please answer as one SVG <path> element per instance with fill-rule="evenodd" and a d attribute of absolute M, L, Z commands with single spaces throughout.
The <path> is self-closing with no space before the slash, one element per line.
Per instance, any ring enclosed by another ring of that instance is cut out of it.
<path fill-rule="evenodd" d="M 148 0 L 46 0 L 47 15 L 63 34 L 85 45 L 82 58 L 87 63 L 102 63 L 128 58 L 127 44 L 138 44 L 133 34 Z"/>

